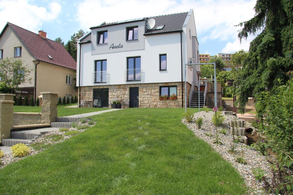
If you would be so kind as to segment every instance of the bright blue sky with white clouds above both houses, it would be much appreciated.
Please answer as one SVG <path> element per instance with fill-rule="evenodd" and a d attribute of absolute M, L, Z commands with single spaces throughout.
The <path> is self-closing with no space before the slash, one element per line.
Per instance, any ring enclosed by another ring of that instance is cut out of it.
<path fill-rule="evenodd" d="M 234 25 L 254 16 L 255 0 L 0 0 L 0 28 L 11 22 L 47 38 L 61 37 L 66 43 L 70 36 L 102 22 L 187 12 L 193 9 L 200 53 L 234 53 L 248 50 L 251 35 L 240 44 L 239 27 Z"/>

